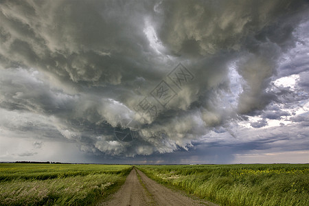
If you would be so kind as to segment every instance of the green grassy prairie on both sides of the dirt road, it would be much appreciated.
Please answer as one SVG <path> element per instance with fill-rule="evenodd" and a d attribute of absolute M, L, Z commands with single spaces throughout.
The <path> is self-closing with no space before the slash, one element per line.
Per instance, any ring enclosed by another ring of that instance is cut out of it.
<path fill-rule="evenodd" d="M 308 164 L 136 165 L 167 187 L 219 205 L 309 205 Z M 0 205 L 95 205 L 131 165 L 0 163 Z"/>

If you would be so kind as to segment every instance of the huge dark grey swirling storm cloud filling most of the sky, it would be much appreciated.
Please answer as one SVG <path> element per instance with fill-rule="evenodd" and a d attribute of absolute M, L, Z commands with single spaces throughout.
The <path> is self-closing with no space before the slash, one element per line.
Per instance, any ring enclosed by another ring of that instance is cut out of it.
<path fill-rule="evenodd" d="M 271 102 L 285 104 L 280 97 L 290 95 L 293 103 L 288 89 L 268 89 L 280 58 L 308 27 L 297 31 L 308 20 L 308 3 L 1 1 L 0 19 L 2 112 L 42 115 L 43 137 L 62 135 L 84 152 L 131 157 L 189 150 L 211 130 L 261 114 Z M 282 63 L 279 75 L 306 71 L 305 57 L 294 65 L 302 69 Z M 193 75 L 182 87 L 167 76 L 179 62 Z M 175 98 L 144 124 L 135 108 L 161 80 L 172 85 Z M 306 80 L 299 87 L 307 88 Z M 281 109 L 262 117 L 287 116 Z M 134 141 L 115 138 L 122 119 L 139 122 Z"/>

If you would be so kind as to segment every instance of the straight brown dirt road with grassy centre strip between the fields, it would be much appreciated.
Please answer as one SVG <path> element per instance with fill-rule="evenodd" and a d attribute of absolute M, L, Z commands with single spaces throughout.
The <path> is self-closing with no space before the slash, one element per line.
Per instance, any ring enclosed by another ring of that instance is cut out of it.
<path fill-rule="evenodd" d="M 139 174 L 139 177 L 137 176 Z M 140 179 L 139 179 L 140 178 Z M 174 192 L 149 179 L 143 172 L 133 169 L 126 182 L 110 201 L 102 205 L 215 205 Z"/>

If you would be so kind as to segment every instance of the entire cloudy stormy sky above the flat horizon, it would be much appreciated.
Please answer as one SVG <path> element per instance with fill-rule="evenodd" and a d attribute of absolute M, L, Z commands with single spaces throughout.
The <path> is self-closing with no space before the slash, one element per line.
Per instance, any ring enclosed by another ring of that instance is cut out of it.
<path fill-rule="evenodd" d="M 309 2 L 0 2 L 0 161 L 309 163 Z"/>

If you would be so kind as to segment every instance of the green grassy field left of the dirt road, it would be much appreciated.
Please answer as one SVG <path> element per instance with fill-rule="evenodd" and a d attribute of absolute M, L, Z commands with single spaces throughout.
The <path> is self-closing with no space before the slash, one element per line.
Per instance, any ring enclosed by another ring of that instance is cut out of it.
<path fill-rule="evenodd" d="M 124 183 L 130 165 L 0 163 L 0 205 L 90 205 Z"/>

